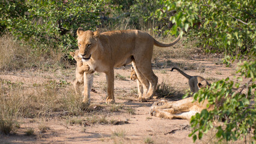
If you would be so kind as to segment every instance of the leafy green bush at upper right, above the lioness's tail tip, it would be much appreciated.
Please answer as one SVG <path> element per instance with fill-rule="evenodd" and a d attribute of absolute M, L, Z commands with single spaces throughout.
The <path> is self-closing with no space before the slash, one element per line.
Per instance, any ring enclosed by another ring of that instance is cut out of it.
<path fill-rule="evenodd" d="M 166 32 L 177 35 L 177 29 L 183 29 L 190 40 L 197 40 L 206 52 L 255 55 L 256 19 L 252 7 L 255 1 L 161 0 L 160 3 L 164 7 L 156 10 L 154 16 L 169 17 L 174 25 Z"/>

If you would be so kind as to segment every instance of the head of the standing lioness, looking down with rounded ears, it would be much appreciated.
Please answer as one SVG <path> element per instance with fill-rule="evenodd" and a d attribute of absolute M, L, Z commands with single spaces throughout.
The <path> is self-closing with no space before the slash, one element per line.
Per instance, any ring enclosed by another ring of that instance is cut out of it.
<path fill-rule="evenodd" d="M 82 58 L 82 61 L 87 61 L 91 58 L 91 54 L 97 49 L 100 30 L 97 29 L 97 31 L 93 32 L 78 28 L 76 34 L 78 34 L 78 56 Z"/>

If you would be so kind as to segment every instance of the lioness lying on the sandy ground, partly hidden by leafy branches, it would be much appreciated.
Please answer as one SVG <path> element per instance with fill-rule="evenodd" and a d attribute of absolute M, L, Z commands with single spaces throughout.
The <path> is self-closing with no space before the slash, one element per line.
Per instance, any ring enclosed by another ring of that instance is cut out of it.
<path fill-rule="evenodd" d="M 203 109 L 213 110 L 214 106 L 210 105 L 208 100 L 204 100 L 201 103 L 198 101 L 193 102 L 193 97 L 184 98 L 179 101 L 156 101 L 150 109 L 151 116 L 157 116 L 159 118 L 166 119 L 190 119 L 196 113 L 201 113 Z"/>

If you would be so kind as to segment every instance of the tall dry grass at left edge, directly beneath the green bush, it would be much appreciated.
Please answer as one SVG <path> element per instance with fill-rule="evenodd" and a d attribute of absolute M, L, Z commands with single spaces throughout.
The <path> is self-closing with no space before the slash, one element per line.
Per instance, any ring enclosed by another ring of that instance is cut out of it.
<path fill-rule="evenodd" d="M 67 62 L 61 61 L 64 53 L 55 49 L 52 44 L 30 47 L 24 41 L 16 40 L 10 34 L 3 34 L 0 38 L 0 71 L 14 71 L 20 69 L 59 67 Z"/>

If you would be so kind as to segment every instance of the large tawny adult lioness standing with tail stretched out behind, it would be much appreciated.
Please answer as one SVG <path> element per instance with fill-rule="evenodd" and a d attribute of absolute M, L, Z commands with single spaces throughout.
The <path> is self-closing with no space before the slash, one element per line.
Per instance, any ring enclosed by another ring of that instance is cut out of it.
<path fill-rule="evenodd" d="M 130 64 L 130 62 L 132 62 L 138 79 L 145 88 L 141 101 L 147 101 L 153 97 L 158 80 L 151 68 L 153 46 L 169 47 L 180 40 L 179 36 L 172 43 L 162 44 L 147 32 L 139 30 L 109 31 L 100 34 L 99 29 L 93 32 L 79 28 L 76 33 L 78 34 L 79 56 L 82 61 L 88 62 L 93 70 L 106 74 L 107 104 L 115 102 L 114 67 L 121 67 Z M 84 88 L 84 103 L 90 102 L 88 86 L 91 86 L 93 82 L 92 76 L 93 74 L 89 73 L 85 73 L 84 76 L 84 81 L 87 82 Z"/>

